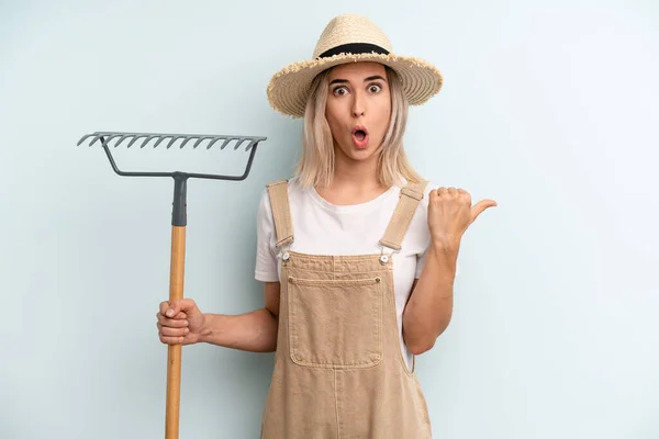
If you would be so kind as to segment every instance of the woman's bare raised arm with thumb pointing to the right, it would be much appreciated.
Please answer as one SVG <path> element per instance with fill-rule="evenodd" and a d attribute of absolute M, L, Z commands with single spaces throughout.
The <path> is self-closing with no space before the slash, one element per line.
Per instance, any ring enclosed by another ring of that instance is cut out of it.
<path fill-rule="evenodd" d="M 434 189 L 428 196 L 431 244 L 403 311 L 403 338 L 414 354 L 432 349 L 448 327 L 460 240 L 485 209 L 496 205 L 482 200 L 472 206 L 469 193 L 455 188 Z"/>

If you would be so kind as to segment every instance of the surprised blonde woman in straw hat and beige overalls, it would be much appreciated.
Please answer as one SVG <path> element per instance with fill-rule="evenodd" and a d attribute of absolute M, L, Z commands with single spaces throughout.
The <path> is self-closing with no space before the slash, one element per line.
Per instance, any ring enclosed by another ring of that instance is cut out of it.
<path fill-rule="evenodd" d="M 440 87 L 351 14 L 327 24 L 312 60 L 273 76 L 269 101 L 304 117 L 304 149 L 259 205 L 265 307 L 203 314 L 183 300 L 158 313 L 165 344 L 276 351 L 261 438 L 431 437 L 414 358 L 450 320 L 462 234 L 495 205 L 431 189 L 407 162 L 407 105 Z"/>

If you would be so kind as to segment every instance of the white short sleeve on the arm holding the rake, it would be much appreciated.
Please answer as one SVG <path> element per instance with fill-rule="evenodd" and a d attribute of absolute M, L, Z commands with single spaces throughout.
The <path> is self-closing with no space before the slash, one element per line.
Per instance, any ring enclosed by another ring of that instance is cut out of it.
<path fill-rule="evenodd" d="M 279 281 L 277 257 L 272 252 L 275 241 L 275 224 L 270 198 L 264 190 L 256 213 L 256 266 L 254 277 L 261 282 Z"/>

